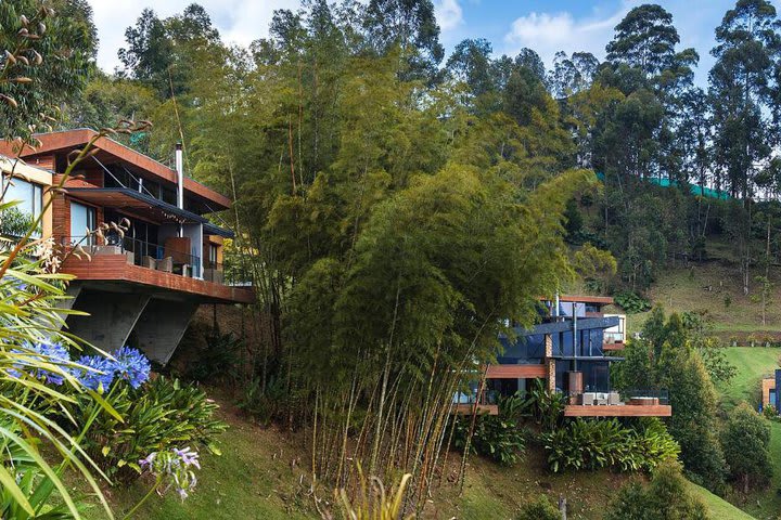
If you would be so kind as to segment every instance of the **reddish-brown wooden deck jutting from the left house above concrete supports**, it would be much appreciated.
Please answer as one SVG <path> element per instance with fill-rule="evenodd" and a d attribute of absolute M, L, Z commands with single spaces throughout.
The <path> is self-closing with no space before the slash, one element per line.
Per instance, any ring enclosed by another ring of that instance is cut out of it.
<path fill-rule="evenodd" d="M 231 287 L 204 280 L 156 271 L 128 263 L 125 255 L 98 255 L 91 260 L 71 256 L 61 272 L 73 274 L 79 281 L 125 282 L 202 297 L 204 302 L 252 303 L 252 288 Z"/>

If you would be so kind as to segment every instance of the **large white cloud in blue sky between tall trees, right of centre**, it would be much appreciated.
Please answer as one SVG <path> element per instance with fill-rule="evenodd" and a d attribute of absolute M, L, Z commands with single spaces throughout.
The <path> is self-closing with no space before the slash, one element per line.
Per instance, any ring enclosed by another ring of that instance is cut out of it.
<path fill-rule="evenodd" d="M 504 36 L 504 52 L 513 55 L 528 47 L 537 51 L 547 65 L 553 62 L 558 51 L 587 51 L 602 57 L 605 43 L 613 38 L 613 28 L 628 10 L 629 4 L 626 2 L 620 10 L 606 17 L 582 20 L 575 20 L 567 12 L 529 13 L 512 23 L 510 31 Z"/>

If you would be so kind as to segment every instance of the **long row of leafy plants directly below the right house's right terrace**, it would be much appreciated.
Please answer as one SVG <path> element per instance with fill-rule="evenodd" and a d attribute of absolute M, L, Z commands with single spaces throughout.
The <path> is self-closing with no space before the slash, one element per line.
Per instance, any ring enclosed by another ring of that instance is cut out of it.
<path fill-rule="evenodd" d="M 615 468 L 648 471 L 676 460 L 680 448 L 661 421 L 625 428 L 616 419 L 568 421 L 541 435 L 553 472 Z"/>

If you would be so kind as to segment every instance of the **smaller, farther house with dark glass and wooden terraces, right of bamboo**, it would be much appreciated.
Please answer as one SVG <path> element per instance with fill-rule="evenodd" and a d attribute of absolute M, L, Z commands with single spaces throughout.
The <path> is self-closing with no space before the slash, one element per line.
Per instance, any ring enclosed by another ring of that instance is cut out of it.
<path fill-rule="evenodd" d="M 625 316 L 606 314 L 607 297 L 561 296 L 541 301 L 540 323 L 530 329 L 515 327 L 514 338 L 501 336 L 503 352 L 485 370 L 485 387 L 477 399 L 458 400 L 460 412 L 477 407 L 498 412 L 498 395 L 512 395 L 543 380 L 551 392 L 567 395 L 569 417 L 670 416 L 665 392 L 635 390 L 619 394 L 611 388 L 610 367 L 626 340 Z"/>

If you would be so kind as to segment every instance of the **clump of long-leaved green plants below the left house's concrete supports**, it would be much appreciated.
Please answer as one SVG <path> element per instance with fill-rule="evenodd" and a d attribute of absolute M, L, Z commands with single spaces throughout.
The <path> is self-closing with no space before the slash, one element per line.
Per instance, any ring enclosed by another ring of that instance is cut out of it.
<path fill-rule="evenodd" d="M 195 386 L 161 376 L 138 390 L 116 384 L 104 398 L 123 420 L 99 413 L 84 446 L 116 482 L 138 478 L 138 461 L 152 452 L 203 445 L 219 453 L 215 440 L 228 425 L 214 417 L 218 406 Z M 94 410 L 92 400 L 76 399 L 69 413 L 81 426 L 93 417 Z"/>

